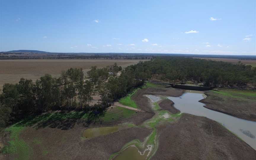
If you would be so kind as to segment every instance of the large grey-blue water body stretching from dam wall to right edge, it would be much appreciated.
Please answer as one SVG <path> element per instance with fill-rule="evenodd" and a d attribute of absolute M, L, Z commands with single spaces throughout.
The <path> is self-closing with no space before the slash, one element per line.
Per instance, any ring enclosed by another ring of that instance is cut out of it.
<path fill-rule="evenodd" d="M 224 113 L 209 110 L 203 103 L 198 102 L 204 99 L 204 94 L 184 93 L 181 97 L 167 97 L 174 102 L 174 107 L 182 113 L 204 116 L 215 120 L 239 136 L 243 141 L 256 150 L 256 122 L 236 118 Z"/>

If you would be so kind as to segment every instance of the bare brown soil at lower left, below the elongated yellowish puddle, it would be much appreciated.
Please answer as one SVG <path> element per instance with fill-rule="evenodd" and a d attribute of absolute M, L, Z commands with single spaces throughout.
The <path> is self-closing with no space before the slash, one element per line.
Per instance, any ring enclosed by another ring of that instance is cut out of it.
<path fill-rule="evenodd" d="M 125 128 L 118 132 L 95 137 L 88 140 L 81 138 L 83 126 L 76 125 L 70 130 L 60 130 L 57 128 L 43 128 L 35 130 L 28 127 L 21 134 L 21 138 L 26 140 L 33 148 L 31 159 L 108 159 L 113 153 L 119 152 L 124 144 L 138 139 L 144 141 L 151 130 L 146 128 Z M 34 139 L 41 143 L 34 143 Z M 44 151 L 48 151 L 44 155 Z"/>

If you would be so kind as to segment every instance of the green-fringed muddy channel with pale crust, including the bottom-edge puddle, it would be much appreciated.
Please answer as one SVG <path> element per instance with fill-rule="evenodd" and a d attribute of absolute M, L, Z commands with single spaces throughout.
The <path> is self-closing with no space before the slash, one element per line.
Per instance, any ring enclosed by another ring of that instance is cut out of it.
<path fill-rule="evenodd" d="M 148 96 L 146 96 L 148 97 Z M 148 97 L 150 99 L 150 96 Z M 161 97 L 163 99 L 163 97 Z M 160 110 L 158 100 L 151 101 L 153 111 L 156 113 L 154 117 L 147 120 L 146 122 L 141 125 L 141 127 L 146 127 L 153 129 L 150 135 L 145 138 L 144 142 L 140 142 L 137 140 L 131 141 L 124 145 L 124 147 L 118 152 L 109 158 L 110 160 L 122 160 L 122 159 L 137 159 L 137 160 L 144 160 L 150 159 L 157 151 L 158 148 L 158 136 L 157 133 L 157 125 L 159 123 L 168 123 L 171 121 L 176 120 L 181 116 L 181 113 L 172 114 L 167 110 Z M 142 150 L 143 152 L 140 152 Z"/>

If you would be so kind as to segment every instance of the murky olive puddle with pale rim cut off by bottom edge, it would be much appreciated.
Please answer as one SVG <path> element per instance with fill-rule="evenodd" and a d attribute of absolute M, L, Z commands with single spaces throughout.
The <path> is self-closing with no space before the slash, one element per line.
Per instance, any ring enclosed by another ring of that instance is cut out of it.
<path fill-rule="evenodd" d="M 116 155 L 113 160 L 145 160 L 150 152 L 150 147 L 148 147 L 143 153 L 141 153 L 137 147 L 129 146 L 124 149 L 120 154 Z"/>

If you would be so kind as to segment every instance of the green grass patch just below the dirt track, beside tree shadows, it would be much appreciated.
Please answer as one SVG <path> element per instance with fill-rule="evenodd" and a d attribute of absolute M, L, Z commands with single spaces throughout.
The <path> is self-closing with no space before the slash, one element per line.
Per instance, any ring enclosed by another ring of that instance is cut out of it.
<path fill-rule="evenodd" d="M 136 111 L 129 110 L 123 107 L 115 107 L 111 110 L 108 110 L 105 116 L 102 118 L 104 122 L 116 121 L 121 118 L 128 118 L 135 114 Z"/>

